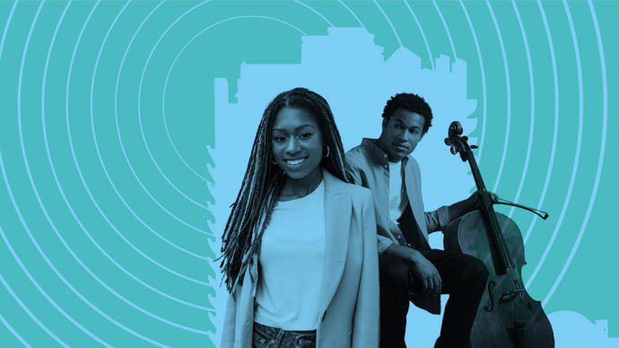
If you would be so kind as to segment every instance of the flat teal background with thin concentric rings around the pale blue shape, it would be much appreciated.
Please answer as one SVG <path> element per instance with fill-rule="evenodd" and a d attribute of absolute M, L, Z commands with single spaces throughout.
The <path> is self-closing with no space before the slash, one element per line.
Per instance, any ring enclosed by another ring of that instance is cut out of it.
<path fill-rule="evenodd" d="M 214 81 L 235 103 L 241 64 L 299 64 L 301 37 L 331 27 L 363 27 L 385 59 L 405 47 L 431 71 L 466 62 L 486 186 L 551 213 L 498 208 L 527 240 L 529 293 L 619 336 L 617 14 L 615 1 L 0 1 L 0 343 L 216 346 L 213 154 L 248 149 L 217 147 L 215 117 L 231 115 L 215 115 Z"/>

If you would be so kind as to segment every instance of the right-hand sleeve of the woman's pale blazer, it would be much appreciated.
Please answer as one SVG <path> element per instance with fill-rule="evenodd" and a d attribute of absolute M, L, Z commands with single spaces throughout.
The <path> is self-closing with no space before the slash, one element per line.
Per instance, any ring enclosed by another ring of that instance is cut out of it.
<path fill-rule="evenodd" d="M 379 255 L 376 218 L 371 193 L 365 193 L 362 207 L 362 274 L 353 317 L 353 348 L 379 346 Z"/>

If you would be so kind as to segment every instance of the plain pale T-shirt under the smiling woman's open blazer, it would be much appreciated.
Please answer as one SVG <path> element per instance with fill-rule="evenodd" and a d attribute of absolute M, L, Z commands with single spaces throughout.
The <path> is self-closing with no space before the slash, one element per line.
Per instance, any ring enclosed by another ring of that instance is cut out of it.
<path fill-rule="evenodd" d="M 325 257 L 325 186 L 277 202 L 262 236 L 254 321 L 284 330 L 316 330 Z"/>

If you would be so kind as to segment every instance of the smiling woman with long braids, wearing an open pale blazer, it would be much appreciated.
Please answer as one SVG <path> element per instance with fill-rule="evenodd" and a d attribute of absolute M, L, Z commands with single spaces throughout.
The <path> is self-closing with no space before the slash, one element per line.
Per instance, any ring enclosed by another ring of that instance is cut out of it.
<path fill-rule="evenodd" d="M 378 347 L 372 197 L 345 166 L 327 100 L 271 101 L 223 231 L 222 348 Z"/>

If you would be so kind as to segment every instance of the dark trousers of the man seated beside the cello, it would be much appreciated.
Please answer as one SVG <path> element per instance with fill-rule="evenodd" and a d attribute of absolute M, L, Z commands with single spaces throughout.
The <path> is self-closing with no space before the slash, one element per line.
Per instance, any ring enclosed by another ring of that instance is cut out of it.
<path fill-rule="evenodd" d="M 477 306 L 482 299 L 488 271 L 475 257 L 445 250 L 423 251 L 439 271 L 441 293 L 449 294 L 440 336 L 435 347 L 468 347 Z M 412 266 L 399 257 L 379 255 L 380 347 L 405 347 L 409 294 L 422 291 Z"/>

